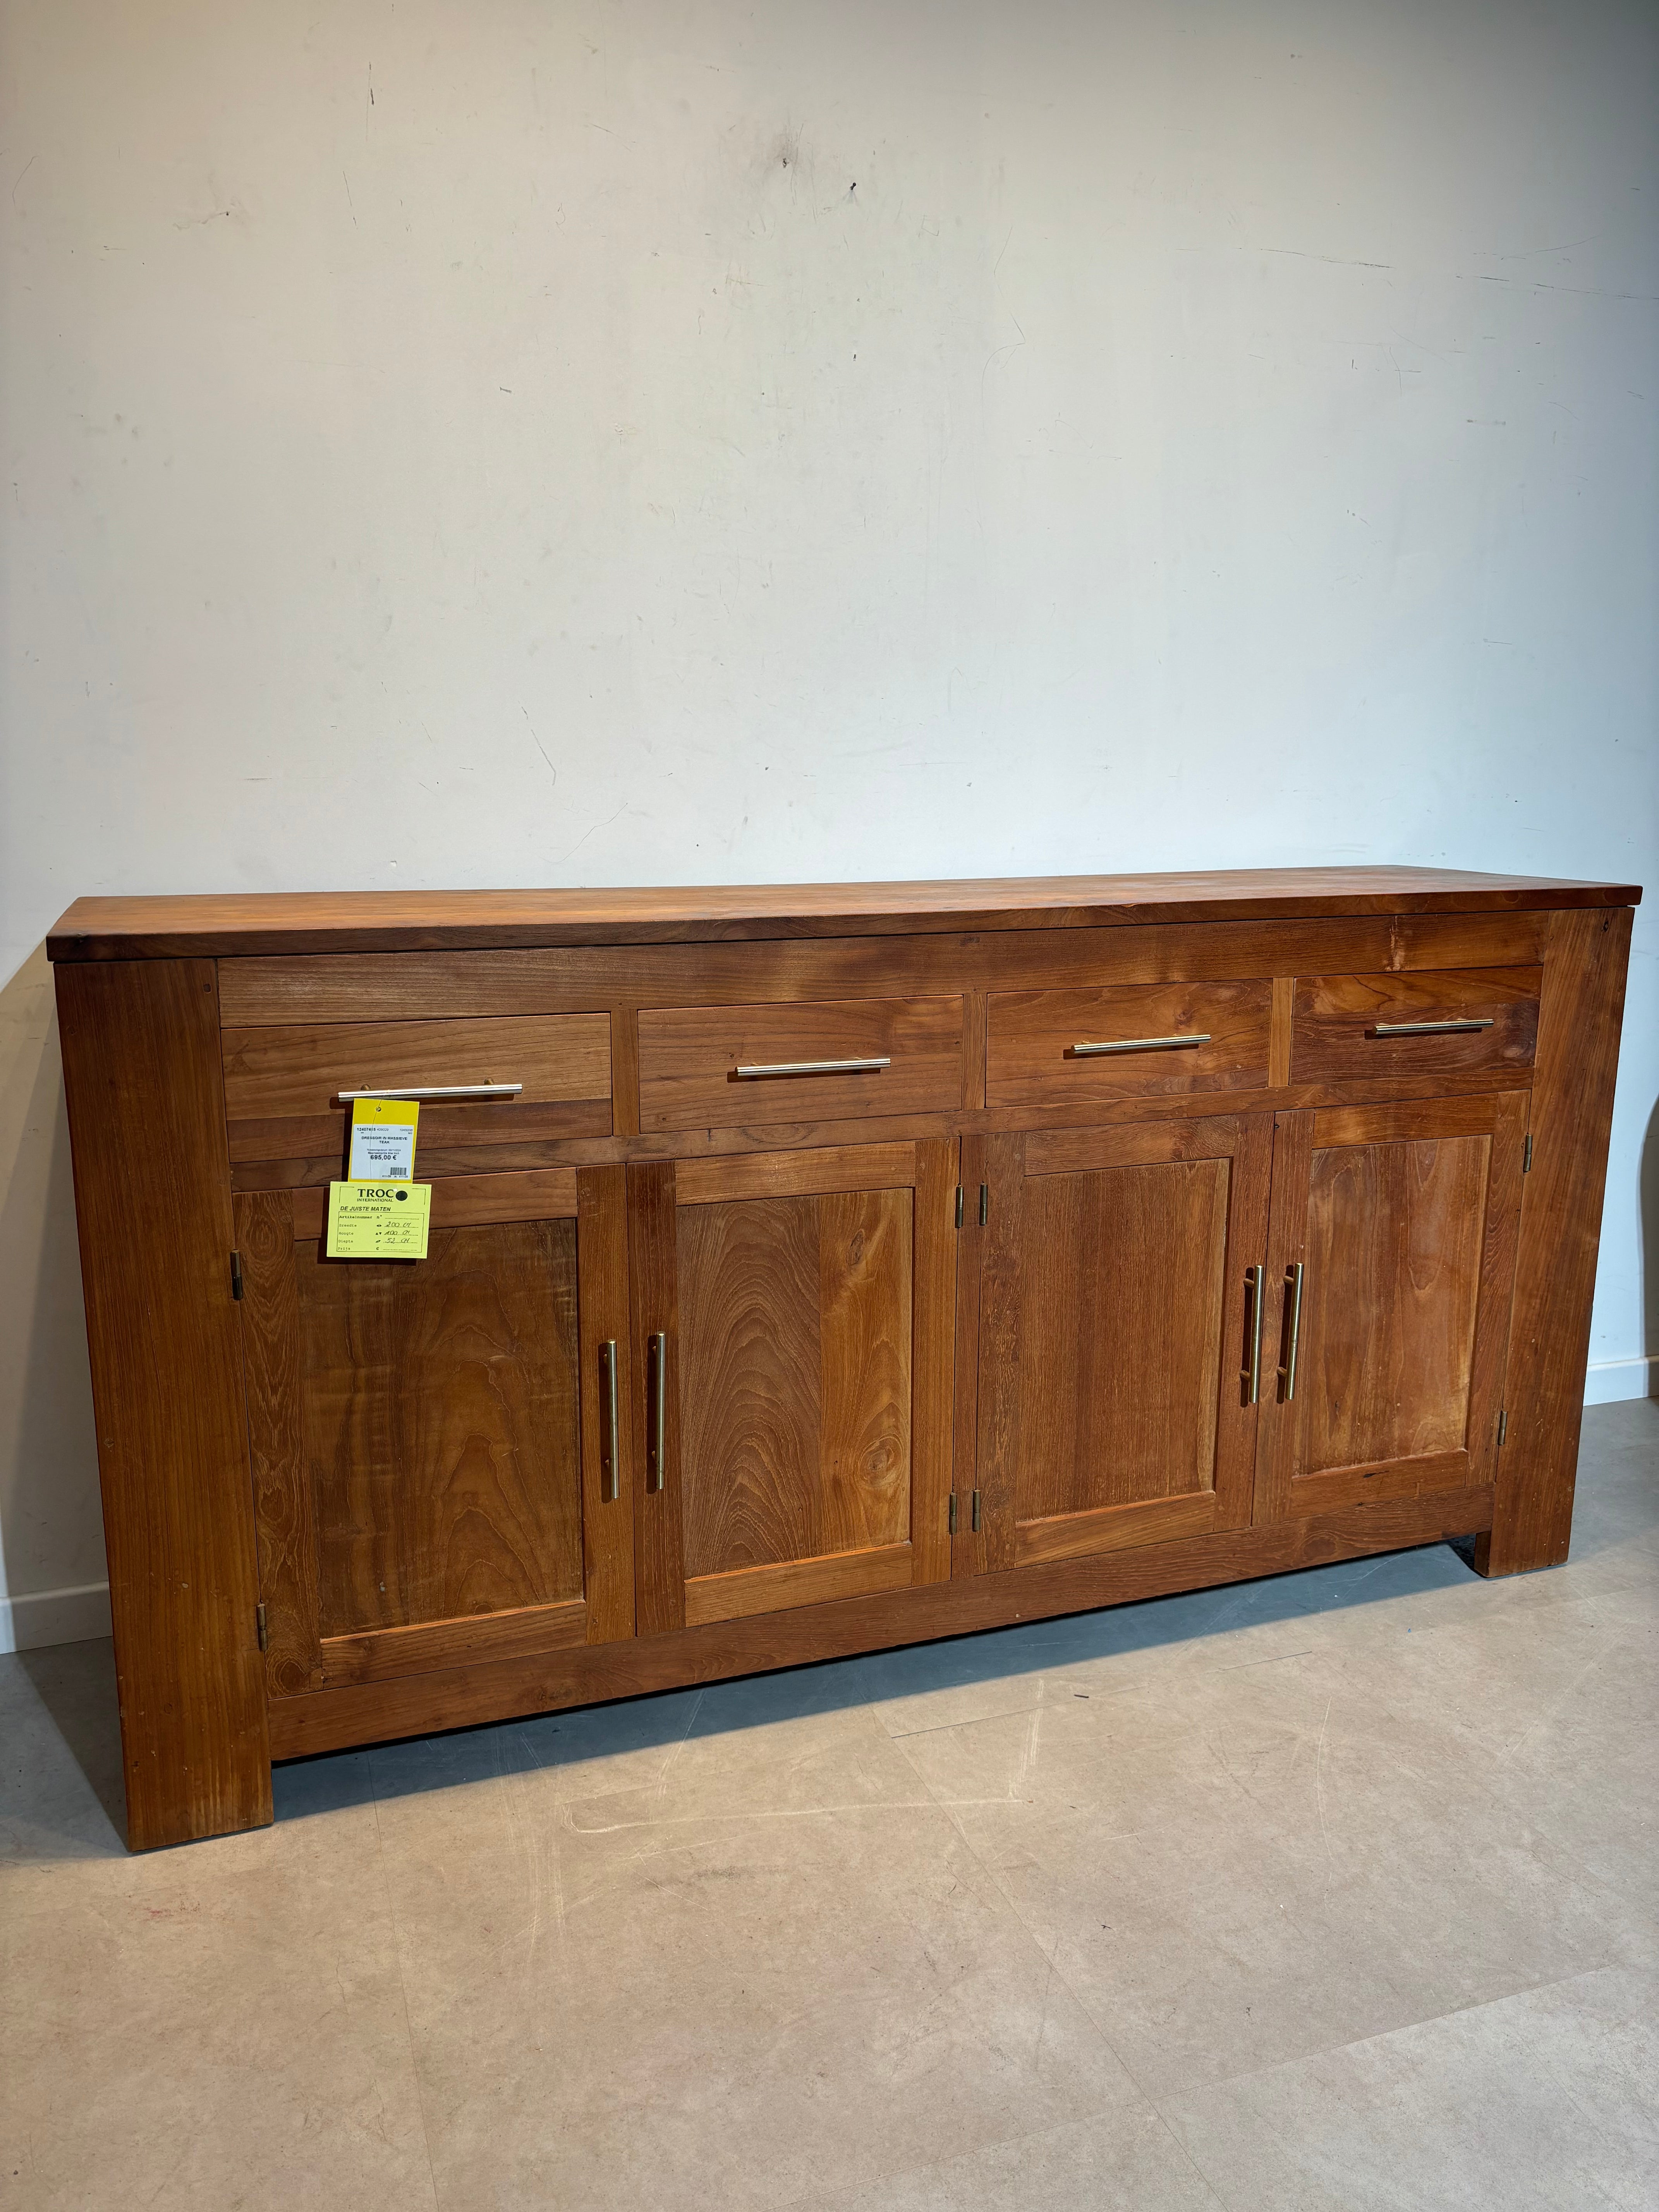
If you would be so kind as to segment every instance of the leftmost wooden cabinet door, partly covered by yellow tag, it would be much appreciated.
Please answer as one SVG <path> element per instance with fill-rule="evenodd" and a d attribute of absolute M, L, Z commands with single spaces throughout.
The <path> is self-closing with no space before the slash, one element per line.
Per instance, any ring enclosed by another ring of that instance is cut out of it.
<path fill-rule="evenodd" d="M 624 1170 L 436 1181 L 422 1261 L 321 1201 L 237 1199 L 270 1694 L 633 1635 Z"/>

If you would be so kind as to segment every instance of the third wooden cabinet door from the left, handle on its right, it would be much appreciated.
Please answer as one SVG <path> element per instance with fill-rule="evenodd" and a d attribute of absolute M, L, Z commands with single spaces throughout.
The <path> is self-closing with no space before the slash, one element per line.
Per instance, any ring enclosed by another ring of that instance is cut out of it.
<path fill-rule="evenodd" d="M 973 1144 L 980 1528 L 958 1566 L 1250 1520 L 1270 1164 L 1267 1115 Z"/>

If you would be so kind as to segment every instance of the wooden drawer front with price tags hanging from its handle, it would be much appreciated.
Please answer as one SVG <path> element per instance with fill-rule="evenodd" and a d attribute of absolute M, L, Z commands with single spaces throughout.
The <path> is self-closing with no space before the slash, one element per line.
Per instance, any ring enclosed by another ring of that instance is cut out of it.
<path fill-rule="evenodd" d="M 226 1029 L 232 1159 L 288 1159 L 345 1144 L 341 1091 L 520 1084 L 502 1099 L 422 1099 L 420 1148 L 611 1135 L 611 1015 L 489 1022 L 316 1022 Z"/>

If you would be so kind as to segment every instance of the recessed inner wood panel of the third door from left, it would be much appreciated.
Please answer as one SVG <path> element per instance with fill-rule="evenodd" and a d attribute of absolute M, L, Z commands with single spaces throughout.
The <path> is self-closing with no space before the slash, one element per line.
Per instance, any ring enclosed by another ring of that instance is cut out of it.
<path fill-rule="evenodd" d="M 1020 1524 L 1212 1489 L 1228 1183 L 1221 1159 L 1029 1181 Z"/>

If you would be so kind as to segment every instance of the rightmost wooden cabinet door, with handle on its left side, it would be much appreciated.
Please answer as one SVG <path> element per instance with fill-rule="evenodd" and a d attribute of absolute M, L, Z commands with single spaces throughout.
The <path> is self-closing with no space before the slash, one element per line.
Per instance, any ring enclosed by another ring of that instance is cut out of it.
<path fill-rule="evenodd" d="M 1256 1520 L 1491 1482 L 1526 1093 L 1279 1117 Z"/>

